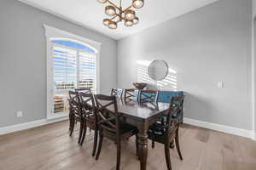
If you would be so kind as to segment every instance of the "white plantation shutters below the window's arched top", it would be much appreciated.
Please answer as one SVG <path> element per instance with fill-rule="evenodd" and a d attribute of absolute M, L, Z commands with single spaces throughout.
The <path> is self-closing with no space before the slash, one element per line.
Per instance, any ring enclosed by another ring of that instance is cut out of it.
<path fill-rule="evenodd" d="M 90 88 L 96 93 L 96 54 L 53 43 L 54 113 L 68 111 L 68 91 Z"/>

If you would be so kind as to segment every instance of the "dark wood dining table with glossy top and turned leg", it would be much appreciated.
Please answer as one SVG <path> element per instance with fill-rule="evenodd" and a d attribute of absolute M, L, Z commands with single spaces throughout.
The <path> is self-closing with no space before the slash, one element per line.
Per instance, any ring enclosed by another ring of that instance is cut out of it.
<path fill-rule="evenodd" d="M 150 103 L 138 104 L 137 102 L 125 102 L 124 99 L 117 98 L 118 112 L 128 124 L 136 126 L 138 129 L 139 143 L 139 160 L 141 170 L 147 169 L 148 158 L 148 128 L 154 122 L 157 122 L 166 111 L 169 104 L 158 103 L 152 105 Z M 113 107 L 108 108 L 110 111 Z"/>

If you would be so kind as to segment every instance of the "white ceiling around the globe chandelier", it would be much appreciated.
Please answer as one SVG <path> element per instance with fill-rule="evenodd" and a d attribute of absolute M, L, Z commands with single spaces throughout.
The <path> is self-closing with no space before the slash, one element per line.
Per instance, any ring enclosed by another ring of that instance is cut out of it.
<path fill-rule="evenodd" d="M 67 20 L 101 32 L 108 37 L 120 39 L 144 29 L 173 19 L 197 8 L 201 8 L 218 0 L 145 0 L 143 8 L 136 9 L 140 22 L 136 26 L 125 27 L 119 23 L 118 29 L 110 30 L 102 25 L 102 20 L 108 16 L 104 14 L 106 5 L 96 0 L 20 0 L 36 8 L 41 8 L 51 14 L 56 14 Z M 119 0 L 112 0 L 119 4 Z M 123 7 L 131 5 L 132 0 L 123 0 Z"/>

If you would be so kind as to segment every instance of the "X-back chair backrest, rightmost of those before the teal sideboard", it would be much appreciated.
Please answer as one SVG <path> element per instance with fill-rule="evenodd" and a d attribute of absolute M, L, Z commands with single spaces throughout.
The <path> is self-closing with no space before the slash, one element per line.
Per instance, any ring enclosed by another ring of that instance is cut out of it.
<path fill-rule="evenodd" d="M 139 92 L 139 102 L 140 103 L 151 103 L 155 105 L 158 99 L 158 91 L 156 90 L 140 90 Z"/>

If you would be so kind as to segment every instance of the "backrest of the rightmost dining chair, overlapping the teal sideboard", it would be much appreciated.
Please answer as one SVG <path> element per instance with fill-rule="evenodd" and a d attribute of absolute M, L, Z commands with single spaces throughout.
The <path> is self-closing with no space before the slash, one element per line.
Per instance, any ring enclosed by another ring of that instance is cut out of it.
<path fill-rule="evenodd" d="M 167 134 L 174 132 L 179 124 L 178 117 L 183 111 L 184 95 L 172 97 L 169 111 L 167 112 Z M 177 114 L 177 116 L 173 116 Z"/>

